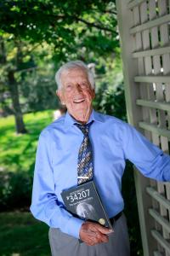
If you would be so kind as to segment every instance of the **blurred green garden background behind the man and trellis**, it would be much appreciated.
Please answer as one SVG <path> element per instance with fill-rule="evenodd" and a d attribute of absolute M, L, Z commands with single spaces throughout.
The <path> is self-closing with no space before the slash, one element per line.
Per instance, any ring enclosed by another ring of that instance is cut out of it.
<path fill-rule="evenodd" d="M 37 140 L 65 112 L 54 73 L 82 60 L 96 80 L 94 109 L 127 120 L 115 1 L 0 3 L 0 255 L 50 255 L 48 226 L 29 212 Z M 133 170 L 122 193 L 132 255 L 142 255 Z"/>

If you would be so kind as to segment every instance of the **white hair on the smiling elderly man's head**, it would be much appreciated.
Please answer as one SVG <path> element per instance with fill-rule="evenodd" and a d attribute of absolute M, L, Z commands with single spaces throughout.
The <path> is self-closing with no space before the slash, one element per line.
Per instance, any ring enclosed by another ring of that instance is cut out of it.
<path fill-rule="evenodd" d="M 55 82 L 58 84 L 58 90 L 62 88 L 61 74 L 67 70 L 71 70 L 75 68 L 81 68 L 87 73 L 88 81 L 91 85 L 91 88 L 95 90 L 94 73 L 82 61 L 69 61 L 59 68 L 59 70 L 55 73 Z"/>

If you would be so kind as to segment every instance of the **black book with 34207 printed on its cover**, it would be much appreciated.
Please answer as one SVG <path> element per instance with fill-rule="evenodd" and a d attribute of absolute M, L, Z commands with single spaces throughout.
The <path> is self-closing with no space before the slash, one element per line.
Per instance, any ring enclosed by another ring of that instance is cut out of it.
<path fill-rule="evenodd" d="M 112 230 L 94 181 L 64 190 L 61 196 L 67 211 L 75 217 L 99 223 Z"/>

